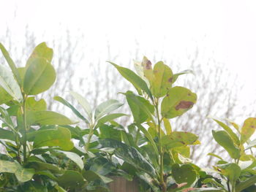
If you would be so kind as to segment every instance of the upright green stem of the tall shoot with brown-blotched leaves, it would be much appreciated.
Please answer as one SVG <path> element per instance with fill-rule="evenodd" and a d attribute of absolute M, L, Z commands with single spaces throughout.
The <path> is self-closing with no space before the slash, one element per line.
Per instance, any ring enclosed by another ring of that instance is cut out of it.
<path fill-rule="evenodd" d="M 156 108 L 156 112 L 157 112 L 157 128 L 158 128 L 158 138 L 159 141 L 162 138 L 161 135 L 161 120 L 160 120 L 160 116 L 159 116 L 159 110 L 158 110 L 158 99 L 155 101 L 155 106 Z M 167 191 L 166 188 L 166 183 L 164 180 L 164 150 L 162 149 L 162 146 L 159 145 L 159 155 L 160 155 L 160 159 L 159 159 L 159 165 L 160 165 L 160 184 L 162 186 L 162 191 L 165 192 Z"/>

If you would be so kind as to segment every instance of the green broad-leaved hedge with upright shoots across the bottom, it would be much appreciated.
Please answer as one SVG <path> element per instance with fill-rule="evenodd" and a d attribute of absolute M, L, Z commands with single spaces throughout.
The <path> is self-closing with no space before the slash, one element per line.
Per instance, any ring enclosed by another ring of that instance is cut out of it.
<path fill-rule="evenodd" d="M 200 145 L 197 135 L 170 123 L 197 101 L 195 93 L 175 85 L 189 71 L 174 74 L 162 61 L 153 67 L 146 57 L 135 63 L 137 74 L 110 62 L 137 91 L 121 93 L 133 122 L 124 127 L 115 121 L 125 115 L 113 113 L 123 105 L 115 99 L 92 109 L 83 96 L 70 91 L 82 111 L 55 96 L 81 120 L 81 127 L 78 121 L 48 111 L 46 101 L 39 99 L 56 80 L 52 49 L 37 45 L 24 67 L 16 67 L 1 44 L 0 49 L 9 66 L 0 65 L 0 142 L 5 150 L 0 154 L 0 191 L 109 191 L 111 175 L 138 177 L 140 191 L 255 189 L 255 140 L 250 140 L 255 118 L 246 119 L 241 128 L 230 121 L 237 134 L 214 119 L 224 131 L 212 131 L 213 137 L 232 162 L 209 153 L 219 162 L 205 170 L 189 159 L 190 146 Z"/>

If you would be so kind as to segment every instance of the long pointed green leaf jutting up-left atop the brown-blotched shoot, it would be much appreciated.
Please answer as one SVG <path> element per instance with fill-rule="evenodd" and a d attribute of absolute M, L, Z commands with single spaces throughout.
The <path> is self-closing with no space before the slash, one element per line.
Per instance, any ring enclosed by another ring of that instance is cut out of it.
<path fill-rule="evenodd" d="M 132 72 L 132 70 L 127 69 L 122 66 L 118 66 L 110 61 L 108 61 L 110 64 L 116 67 L 118 72 L 129 82 L 132 83 L 132 85 L 136 88 L 139 94 L 141 94 L 141 90 L 145 91 L 148 96 L 152 99 L 151 91 L 148 89 L 148 85 L 146 82 L 138 76 L 138 74 L 135 74 L 135 72 Z"/>

